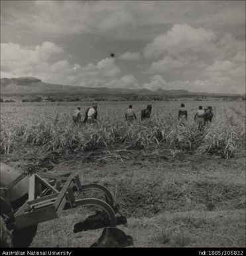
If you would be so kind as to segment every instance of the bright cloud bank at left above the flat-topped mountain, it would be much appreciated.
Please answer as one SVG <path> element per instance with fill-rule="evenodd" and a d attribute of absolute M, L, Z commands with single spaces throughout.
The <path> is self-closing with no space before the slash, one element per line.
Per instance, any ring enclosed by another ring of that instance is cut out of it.
<path fill-rule="evenodd" d="M 36 76 L 51 83 L 68 85 L 89 83 L 93 86 L 95 79 L 107 81 L 107 78 L 114 78 L 121 72 L 113 58 L 102 59 L 97 64 L 80 66 L 78 63 L 60 59 L 64 56 L 66 54 L 63 49 L 51 42 L 31 48 L 24 48 L 15 43 L 3 43 L 1 44 L 1 77 Z"/>

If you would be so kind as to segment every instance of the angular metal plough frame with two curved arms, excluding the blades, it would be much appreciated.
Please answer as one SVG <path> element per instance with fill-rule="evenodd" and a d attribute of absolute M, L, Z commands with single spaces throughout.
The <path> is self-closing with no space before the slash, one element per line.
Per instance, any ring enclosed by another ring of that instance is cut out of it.
<path fill-rule="evenodd" d="M 54 176 L 51 174 L 38 175 L 33 170 L 29 170 L 29 172 L 25 172 L 15 178 L 7 188 L 1 188 L 0 195 L 4 197 L 6 193 L 11 193 L 11 188 L 21 182 L 26 176 L 29 176 L 29 198 L 19 209 L 7 214 L 10 219 L 13 219 L 17 229 L 22 229 L 23 227 L 50 219 L 56 219 L 62 210 L 72 209 L 82 205 L 100 207 L 109 217 L 109 227 L 116 227 L 115 211 L 113 210 L 114 201 L 109 190 L 99 184 L 82 185 L 79 176 L 73 176 L 72 174 L 65 174 L 63 176 Z M 46 182 L 44 178 L 57 180 L 56 188 Z M 58 180 L 60 180 L 60 184 Z M 61 188 L 62 184 L 64 186 Z M 61 188 L 60 191 L 59 187 Z M 78 192 L 92 189 L 99 190 L 105 194 L 107 202 L 96 198 L 76 199 L 74 197 L 74 187 Z M 46 195 L 48 191 L 52 193 Z"/>

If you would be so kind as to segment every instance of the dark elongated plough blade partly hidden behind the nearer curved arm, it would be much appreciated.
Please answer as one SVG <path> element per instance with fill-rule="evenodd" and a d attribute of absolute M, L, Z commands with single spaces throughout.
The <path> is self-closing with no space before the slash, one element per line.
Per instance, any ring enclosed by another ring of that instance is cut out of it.
<path fill-rule="evenodd" d="M 115 216 L 116 225 L 127 224 L 127 218 L 125 216 Z M 81 231 L 100 229 L 102 227 L 109 227 L 109 217 L 104 211 L 97 211 L 94 215 L 90 215 L 84 221 L 76 223 L 74 225 L 74 233 Z"/>

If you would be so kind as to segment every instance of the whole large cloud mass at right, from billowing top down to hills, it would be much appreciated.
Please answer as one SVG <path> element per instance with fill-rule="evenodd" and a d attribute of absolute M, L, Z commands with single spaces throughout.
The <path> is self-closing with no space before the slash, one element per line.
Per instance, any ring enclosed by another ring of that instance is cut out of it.
<path fill-rule="evenodd" d="M 144 73 L 159 74 L 173 81 L 165 84 L 159 77 L 145 84 L 149 88 L 156 88 L 156 84 L 176 88 L 178 84 L 193 91 L 245 91 L 245 41 L 229 33 L 217 36 L 208 29 L 174 25 L 146 45 L 144 56 L 147 61 L 159 58 Z"/>

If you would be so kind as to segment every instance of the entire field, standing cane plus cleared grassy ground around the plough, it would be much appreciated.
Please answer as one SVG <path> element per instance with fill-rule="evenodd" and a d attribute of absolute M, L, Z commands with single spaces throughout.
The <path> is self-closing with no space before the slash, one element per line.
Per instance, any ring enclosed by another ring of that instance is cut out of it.
<path fill-rule="evenodd" d="M 145 120 L 139 115 L 146 104 L 134 102 L 138 119 L 130 123 L 125 103 L 97 104 L 95 124 L 72 122 L 76 106 L 86 112 L 85 102 L 2 104 L 1 160 L 23 171 L 74 172 L 83 183 L 107 187 L 135 246 L 243 246 L 245 102 L 209 102 L 215 114 L 202 131 L 193 120 L 197 102 L 186 103 L 186 126 L 177 102 L 154 102 Z M 31 246 L 83 246 L 80 237 L 91 244 L 96 231 L 72 229 L 84 214 L 76 209 L 40 223 Z"/>

